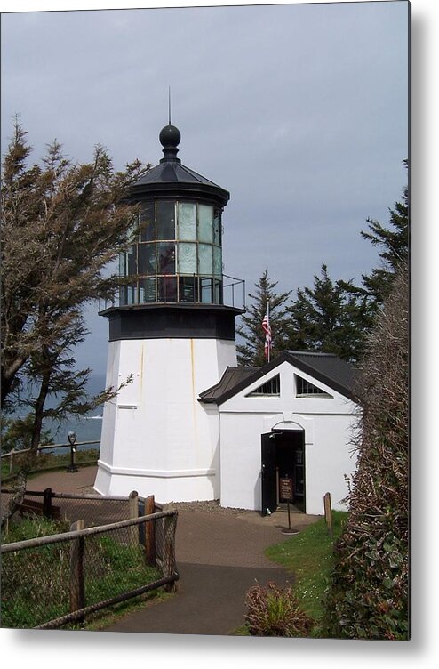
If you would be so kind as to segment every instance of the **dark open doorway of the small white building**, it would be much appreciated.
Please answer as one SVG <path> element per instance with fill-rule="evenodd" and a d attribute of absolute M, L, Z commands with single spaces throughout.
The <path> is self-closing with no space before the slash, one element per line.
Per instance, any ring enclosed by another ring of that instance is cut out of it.
<path fill-rule="evenodd" d="M 293 511 L 305 513 L 305 432 L 279 430 L 262 435 L 262 515 L 274 513 L 285 501 L 279 479 L 292 480 Z"/>

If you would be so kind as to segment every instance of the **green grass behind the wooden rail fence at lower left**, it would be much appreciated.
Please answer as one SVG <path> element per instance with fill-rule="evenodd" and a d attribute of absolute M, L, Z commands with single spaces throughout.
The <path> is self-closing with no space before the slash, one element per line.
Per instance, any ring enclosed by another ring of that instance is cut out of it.
<path fill-rule="evenodd" d="M 4 543 L 36 536 L 58 534 L 68 529 L 66 523 L 40 517 L 23 519 L 10 526 Z M 31 628 L 68 613 L 69 544 L 51 544 L 37 549 L 17 551 L 2 560 L 2 625 Z M 121 544 L 109 536 L 90 537 L 85 543 L 86 604 L 107 600 L 117 593 L 134 590 L 160 577 L 157 569 L 145 564 L 140 546 Z M 162 591 L 142 595 L 134 602 L 152 600 Z M 116 605 L 112 611 L 94 614 L 82 629 L 99 629 L 108 616 L 120 616 L 132 609 L 133 601 Z M 108 620 L 110 624 L 112 618 Z M 103 621 L 103 622 L 102 622 Z M 78 629 L 78 625 L 69 625 Z"/>

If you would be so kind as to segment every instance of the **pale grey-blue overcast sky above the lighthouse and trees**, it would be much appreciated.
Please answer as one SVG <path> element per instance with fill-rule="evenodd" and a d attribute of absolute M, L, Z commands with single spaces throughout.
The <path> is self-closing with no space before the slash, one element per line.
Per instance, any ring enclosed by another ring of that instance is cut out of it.
<path fill-rule="evenodd" d="M 361 280 L 408 156 L 408 3 L 364 2 L 28 12 L 2 17 L 2 153 L 20 113 L 35 148 L 77 161 L 104 144 L 116 167 L 156 165 L 158 133 L 230 191 L 225 272 L 247 292 Z M 102 373 L 108 322 L 93 310 L 81 365 Z"/>

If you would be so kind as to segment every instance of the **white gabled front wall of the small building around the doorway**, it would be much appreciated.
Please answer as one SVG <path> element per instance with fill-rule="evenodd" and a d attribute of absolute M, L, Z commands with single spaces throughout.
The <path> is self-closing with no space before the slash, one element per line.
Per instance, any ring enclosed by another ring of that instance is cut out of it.
<path fill-rule="evenodd" d="M 294 373 L 331 393 L 329 398 L 296 398 Z M 246 397 L 276 374 L 281 375 L 280 397 Z M 356 424 L 355 404 L 323 383 L 283 362 L 257 383 L 219 407 L 221 504 L 261 508 L 261 435 L 272 430 L 305 431 L 306 511 L 323 513 L 323 495 L 331 493 L 333 508 L 348 488 L 344 475 L 355 470 L 350 440 Z"/>

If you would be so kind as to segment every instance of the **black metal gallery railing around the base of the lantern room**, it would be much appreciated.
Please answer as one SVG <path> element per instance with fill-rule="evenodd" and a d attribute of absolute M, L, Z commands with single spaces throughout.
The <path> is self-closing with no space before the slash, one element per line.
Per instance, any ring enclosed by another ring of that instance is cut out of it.
<path fill-rule="evenodd" d="M 121 286 L 113 300 L 100 300 L 100 311 L 141 304 L 221 304 L 245 309 L 243 278 L 157 276 Z"/>

